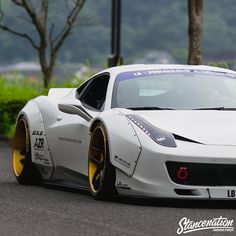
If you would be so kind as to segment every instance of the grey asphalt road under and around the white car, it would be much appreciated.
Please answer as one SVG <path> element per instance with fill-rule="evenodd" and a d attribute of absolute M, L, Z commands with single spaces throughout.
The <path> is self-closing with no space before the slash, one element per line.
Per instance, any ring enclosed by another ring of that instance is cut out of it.
<path fill-rule="evenodd" d="M 95 201 L 88 193 L 20 186 L 11 171 L 11 148 L 0 142 L 0 236 L 177 235 L 183 217 L 234 220 L 233 232 L 204 230 L 187 235 L 236 235 L 236 203 L 116 199 Z M 183 234 L 182 234 L 183 235 Z"/>

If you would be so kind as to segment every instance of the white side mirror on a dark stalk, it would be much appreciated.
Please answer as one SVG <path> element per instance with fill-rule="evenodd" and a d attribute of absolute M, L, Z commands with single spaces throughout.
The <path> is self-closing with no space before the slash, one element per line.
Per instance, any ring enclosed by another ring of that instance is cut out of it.
<path fill-rule="evenodd" d="M 76 103 L 76 104 L 75 104 Z M 80 101 L 72 101 L 71 103 L 60 103 L 58 104 L 58 108 L 60 111 L 72 114 L 72 115 L 78 115 L 85 119 L 86 121 L 92 120 L 92 116 L 83 108 Z"/>

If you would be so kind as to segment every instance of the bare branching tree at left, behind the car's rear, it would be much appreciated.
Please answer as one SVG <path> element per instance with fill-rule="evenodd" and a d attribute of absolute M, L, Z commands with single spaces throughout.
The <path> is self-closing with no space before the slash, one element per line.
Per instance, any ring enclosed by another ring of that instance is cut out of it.
<path fill-rule="evenodd" d="M 37 51 L 45 88 L 48 87 L 52 78 L 58 52 L 66 38 L 72 33 L 77 16 L 83 8 L 85 1 L 65 0 L 68 15 L 61 29 L 55 32 L 56 23 L 50 22 L 49 24 L 48 20 L 50 0 L 37 0 L 34 4 L 32 0 L 11 0 L 15 7 L 23 9 L 25 16 L 21 17 L 21 19 L 26 20 L 33 26 L 38 36 L 35 39 L 30 33 L 12 28 L 3 21 L 4 11 L 2 1 L 0 0 L 0 29 L 28 40 L 30 45 Z M 59 1 L 57 1 L 58 3 Z"/>

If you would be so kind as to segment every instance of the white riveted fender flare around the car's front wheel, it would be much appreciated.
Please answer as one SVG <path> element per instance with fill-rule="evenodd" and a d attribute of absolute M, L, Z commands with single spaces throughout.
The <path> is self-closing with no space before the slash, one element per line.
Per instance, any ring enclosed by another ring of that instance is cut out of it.
<path fill-rule="evenodd" d="M 119 109 L 101 113 L 93 120 L 90 131 L 97 122 L 102 122 L 106 129 L 111 164 L 131 177 L 142 150 L 131 123 Z"/>

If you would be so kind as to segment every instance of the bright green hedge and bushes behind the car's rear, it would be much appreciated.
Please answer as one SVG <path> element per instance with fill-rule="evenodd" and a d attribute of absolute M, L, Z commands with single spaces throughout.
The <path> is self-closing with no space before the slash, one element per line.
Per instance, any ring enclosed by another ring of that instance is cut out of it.
<path fill-rule="evenodd" d="M 21 78 L 17 74 L 13 77 L 10 80 L 0 77 L 0 136 L 7 136 L 8 138 L 13 137 L 17 114 L 27 101 L 48 93 L 48 89 L 45 90 L 43 85 L 37 81 Z M 78 78 L 71 77 L 62 82 L 52 82 L 50 88 L 72 88 L 79 86 L 81 82 Z"/>

